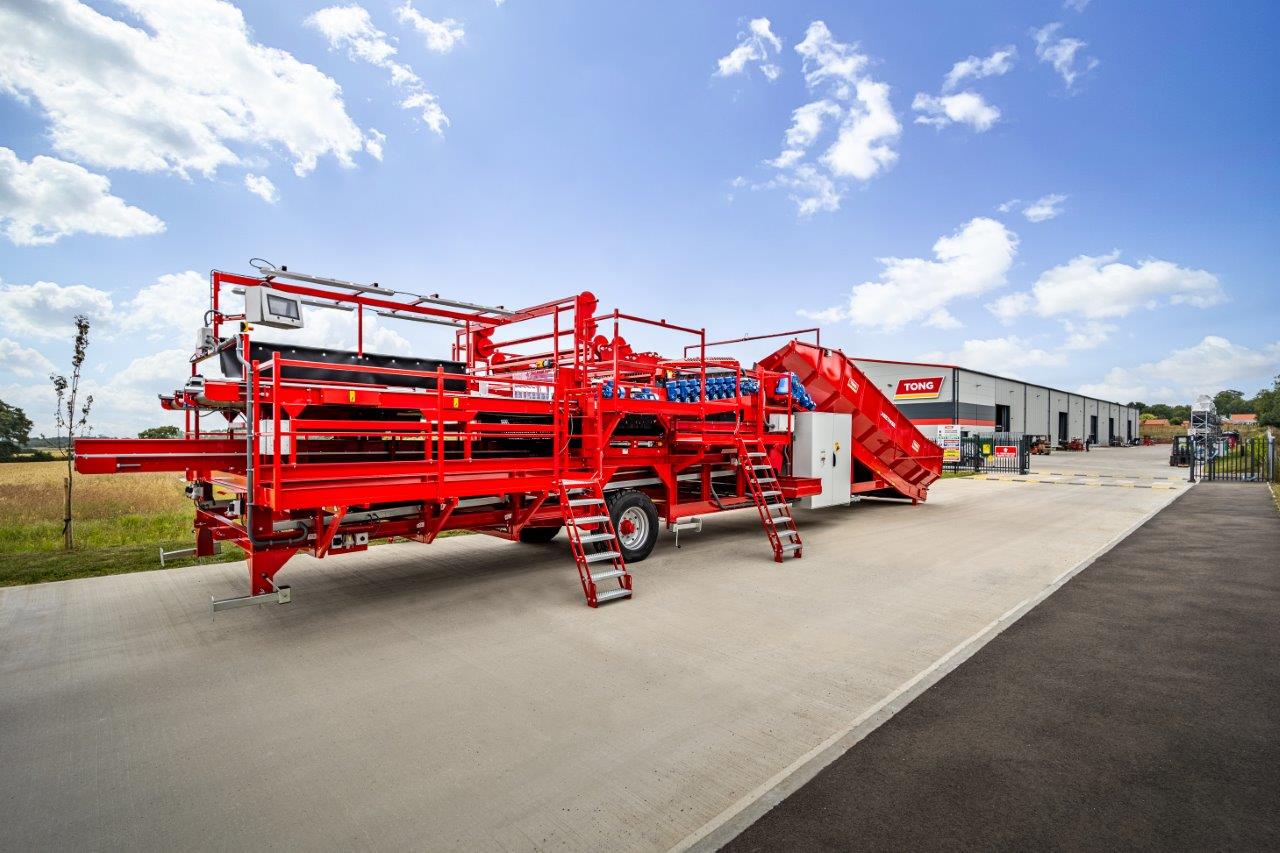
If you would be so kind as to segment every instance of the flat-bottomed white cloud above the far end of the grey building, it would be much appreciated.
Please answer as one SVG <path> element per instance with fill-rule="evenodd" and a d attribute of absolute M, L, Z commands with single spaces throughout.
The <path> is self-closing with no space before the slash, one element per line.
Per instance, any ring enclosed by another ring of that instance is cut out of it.
<path fill-rule="evenodd" d="M 1016 298 L 1021 311 L 1034 310 L 1041 316 L 1078 315 L 1091 319 L 1126 316 L 1161 304 L 1210 307 L 1226 298 L 1217 277 L 1206 270 L 1156 259 L 1130 266 L 1121 264 L 1119 257 L 1117 251 L 1101 256 L 1080 255 L 1041 273 L 1029 297 L 1006 298 Z M 998 310 L 992 310 L 1001 316 Z"/>

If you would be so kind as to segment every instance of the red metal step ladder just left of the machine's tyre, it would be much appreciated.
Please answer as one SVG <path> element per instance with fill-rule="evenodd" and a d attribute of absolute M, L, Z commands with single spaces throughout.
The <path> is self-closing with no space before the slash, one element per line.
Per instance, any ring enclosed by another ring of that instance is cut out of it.
<path fill-rule="evenodd" d="M 594 479 L 561 480 L 558 492 L 568 547 L 577 564 L 586 603 L 598 607 L 616 598 L 630 598 L 631 575 L 622 561 L 622 548 L 600 483 Z M 595 542 L 605 543 L 604 549 L 588 551 L 586 546 Z M 616 585 L 611 585 L 611 580 Z M 608 588 L 600 589 L 602 583 Z"/>

